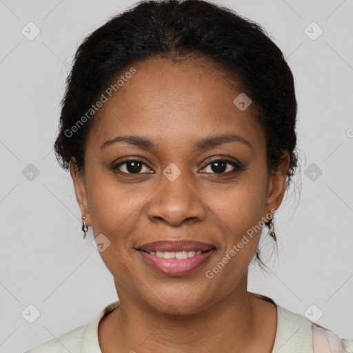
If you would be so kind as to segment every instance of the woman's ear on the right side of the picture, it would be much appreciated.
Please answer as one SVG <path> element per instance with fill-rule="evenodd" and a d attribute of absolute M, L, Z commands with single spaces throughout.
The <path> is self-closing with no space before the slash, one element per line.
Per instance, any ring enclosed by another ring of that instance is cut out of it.
<path fill-rule="evenodd" d="M 287 151 L 283 151 L 281 154 L 281 164 L 276 171 L 272 172 L 268 181 L 268 192 L 265 201 L 266 214 L 273 209 L 278 210 L 282 203 L 289 163 L 290 155 Z M 271 212 L 271 214 L 273 213 L 275 212 Z"/>

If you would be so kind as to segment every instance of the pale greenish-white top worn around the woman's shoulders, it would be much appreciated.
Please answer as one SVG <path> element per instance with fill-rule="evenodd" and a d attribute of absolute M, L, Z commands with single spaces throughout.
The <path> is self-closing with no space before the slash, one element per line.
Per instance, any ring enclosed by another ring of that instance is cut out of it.
<path fill-rule="evenodd" d="M 274 301 L 268 297 L 263 299 Z M 333 332 L 305 316 L 295 314 L 274 303 L 277 308 L 277 330 L 272 353 L 353 353 L 353 341 L 339 339 Z M 43 343 L 25 353 L 102 353 L 98 340 L 98 324 L 105 314 L 119 306 L 107 305 L 96 319 Z"/>

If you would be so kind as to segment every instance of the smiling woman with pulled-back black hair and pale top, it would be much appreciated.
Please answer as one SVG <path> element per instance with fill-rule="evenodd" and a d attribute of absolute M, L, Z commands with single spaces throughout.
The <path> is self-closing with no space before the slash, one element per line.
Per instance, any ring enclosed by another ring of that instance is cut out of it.
<path fill-rule="evenodd" d="M 294 81 L 256 23 L 148 1 L 77 50 L 55 143 L 119 301 L 39 352 L 353 352 L 248 292 L 292 181 Z"/>

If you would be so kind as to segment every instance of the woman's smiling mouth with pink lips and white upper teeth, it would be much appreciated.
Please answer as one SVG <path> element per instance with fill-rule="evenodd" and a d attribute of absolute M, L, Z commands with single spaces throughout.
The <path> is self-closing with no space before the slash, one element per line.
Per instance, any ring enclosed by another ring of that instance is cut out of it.
<path fill-rule="evenodd" d="M 154 270 L 169 276 L 183 276 L 208 261 L 216 248 L 208 243 L 181 240 L 154 241 L 136 250 Z"/>

